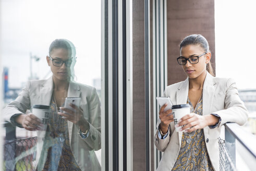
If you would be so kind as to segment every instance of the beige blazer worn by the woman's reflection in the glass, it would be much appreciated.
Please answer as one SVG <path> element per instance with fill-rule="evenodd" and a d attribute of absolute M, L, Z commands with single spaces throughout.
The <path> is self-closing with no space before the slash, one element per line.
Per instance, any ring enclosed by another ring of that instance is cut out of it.
<path fill-rule="evenodd" d="M 17 99 L 4 108 L 5 120 L 10 122 L 10 117 L 14 114 L 26 114 L 27 109 L 33 104 L 50 105 L 52 93 L 52 77 L 47 80 L 28 81 Z M 81 170 L 101 170 L 93 151 L 101 149 L 101 108 L 96 90 L 90 86 L 70 82 L 67 96 L 81 97 L 80 107 L 83 109 L 83 116 L 90 123 L 89 137 L 82 139 L 78 134 L 79 127 L 68 121 L 69 143 L 75 160 Z M 36 163 L 41 170 L 46 160 L 46 156 L 41 156 L 46 132 L 37 131 L 37 133 Z"/>

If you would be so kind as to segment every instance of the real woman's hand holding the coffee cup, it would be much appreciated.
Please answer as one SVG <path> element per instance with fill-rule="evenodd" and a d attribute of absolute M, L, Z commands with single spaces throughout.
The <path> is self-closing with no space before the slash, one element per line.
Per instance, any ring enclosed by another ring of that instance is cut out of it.
<path fill-rule="evenodd" d="M 185 130 L 187 128 L 187 130 L 185 130 L 184 132 L 192 132 L 194 130 L 197 129 L 203 129 L 206 126 L 209 125 L 214 125 L 215 123 L 217 123 L 218 118 L 214 115 L 198 115 L 195 113 L 190 113 L 184 117 L 182 117 L 178 124 L 176 125 L 176 127 L 182 126 L 184 125 L 184 127 L 182 127 L 182 130 Z"/>

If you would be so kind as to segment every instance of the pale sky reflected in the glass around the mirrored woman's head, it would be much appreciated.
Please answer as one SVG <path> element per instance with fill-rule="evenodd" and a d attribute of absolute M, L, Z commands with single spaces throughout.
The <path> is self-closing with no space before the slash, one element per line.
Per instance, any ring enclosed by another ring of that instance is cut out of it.
<path fill-rule="evenodd" d="M 51 76 L 46 55 L 51 42 L 64 38 L 77 51 L 77 82 L 93 86 L 101 78 L 101 1 L 100 0 L 2 0 L 0 5 L 2 67 L 9 68 L 9 87 L 23 87 L 33 75 Z"/>

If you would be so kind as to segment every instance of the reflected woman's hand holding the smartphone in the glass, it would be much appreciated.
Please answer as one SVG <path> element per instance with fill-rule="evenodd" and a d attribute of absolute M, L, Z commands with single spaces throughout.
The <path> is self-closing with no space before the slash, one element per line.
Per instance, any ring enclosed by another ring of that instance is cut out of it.
<path fill-rule="evenodd" d="M 72 111 L 65 107 L 59 107 L 62 111 L 66 112 L 58 112 L 60 116 L 64 116 L 66 120 L 71 121 L 72 123 L 78 125 L 80 129 L 84 128 L 85 130 L 89 129 L 88 121 L 83 117 L 83 111 L 80 107 L 77 107 L 74 104 L 70 103 L 70 106 L 74 108 L 75 111 Z M 83 129 L 83 130 L 84 130 Z"/>

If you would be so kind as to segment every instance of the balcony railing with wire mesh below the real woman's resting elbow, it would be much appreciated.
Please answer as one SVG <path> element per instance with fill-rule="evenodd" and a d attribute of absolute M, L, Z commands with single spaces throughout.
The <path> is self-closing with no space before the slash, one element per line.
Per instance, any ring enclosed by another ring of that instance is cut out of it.
<path fill-rule="evenodd" d="M 237 170 L 237 155 L 240 155 L 240 157 L 243 159 L 243 163 L 245 163 L 245 166 L 242 167 L 255 170 L 256 137 L 252 135 L 252 133 L 244 130 L 236 123 L 226 123 L 225 141 L 219 139 L 219 144 L 221 170 Z M 236 151 L 239 154 L 236 154 Z"/>

